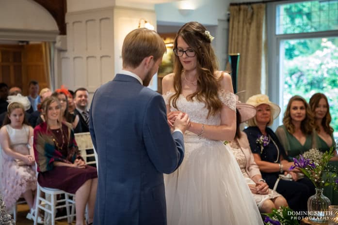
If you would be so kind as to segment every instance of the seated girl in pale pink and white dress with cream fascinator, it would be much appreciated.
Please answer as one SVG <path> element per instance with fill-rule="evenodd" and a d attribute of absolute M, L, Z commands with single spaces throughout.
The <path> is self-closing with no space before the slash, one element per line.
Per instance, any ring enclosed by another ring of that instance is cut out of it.
<path fill-rule="evenodd" d="M 23 195 L 31 209 L 27 218 L 33 219 L 33 192 L 36 189 L 33 129 L 25 118 L 25 110 L 31 104 L 21 94 L 9 96 L 8 99 L 7 117 L 0 129 L 0 191 L 7 210 L 15 207 L 16 201 Z M 42 223 L 41 218 L 39 223 Z"/>

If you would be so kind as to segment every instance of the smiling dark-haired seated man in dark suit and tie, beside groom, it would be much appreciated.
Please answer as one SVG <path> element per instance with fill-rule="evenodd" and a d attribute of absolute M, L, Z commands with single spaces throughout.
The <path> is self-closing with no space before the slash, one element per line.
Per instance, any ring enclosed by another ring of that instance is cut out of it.
<path fill-rule="evenodd" d="M 75 110 L 74 114 L 79 115 L 81 129 L 77 132 L 89 132 L 88 120 L 89 120 L 89 109 L 88 109 L 88 90 L 85 88 L 79 88 L 74 92 L 74 103 Z"/>

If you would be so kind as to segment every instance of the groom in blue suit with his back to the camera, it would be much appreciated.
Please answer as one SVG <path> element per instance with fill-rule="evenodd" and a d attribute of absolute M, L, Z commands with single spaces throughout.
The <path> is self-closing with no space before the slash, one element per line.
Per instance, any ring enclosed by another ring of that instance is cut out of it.
<path fill-rule="evenodd" d="M 190 120 L 180 114 L 171 134 L 162 96 L 146 88 L 165 50 L 155 31 L 131 31 L 122 46 L 122 73 L 94 94 L 89 123 L 99 173 L 94 225 L 166 225 L 163 173 L 181 164 Z"/>

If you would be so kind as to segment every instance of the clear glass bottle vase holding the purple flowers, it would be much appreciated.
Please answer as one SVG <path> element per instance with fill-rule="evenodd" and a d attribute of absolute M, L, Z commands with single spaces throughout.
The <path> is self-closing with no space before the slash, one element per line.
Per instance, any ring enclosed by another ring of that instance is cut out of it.
<path fill-rule="evenodd" d="M 316 188 L 316 194 L 307 200 L 308 219 L 313 222 L 327 222 L 330 199 L 323 195 L 323 188 Z"/>

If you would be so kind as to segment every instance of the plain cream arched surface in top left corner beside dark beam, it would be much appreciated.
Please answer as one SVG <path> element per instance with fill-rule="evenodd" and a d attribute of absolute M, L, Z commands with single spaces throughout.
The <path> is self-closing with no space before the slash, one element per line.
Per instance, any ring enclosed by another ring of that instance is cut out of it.
<path fill-rule="evenodd" d="M 59 30 L 47 9 L 33 0 L 1 0 L 0 29 Z"/>

